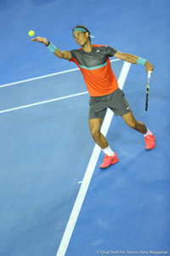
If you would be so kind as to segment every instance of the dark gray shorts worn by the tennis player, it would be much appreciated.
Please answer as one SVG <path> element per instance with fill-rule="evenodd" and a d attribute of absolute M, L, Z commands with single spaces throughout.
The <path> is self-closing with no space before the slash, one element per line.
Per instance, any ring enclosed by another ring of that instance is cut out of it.
<path fill-rule="evenodd" d="M 88 119 L 104 119 L 107 108 L 111 108 L 116 116 L 132 111 L 124 92 L 118 88 L 109 95 L 90 97 Z"/>

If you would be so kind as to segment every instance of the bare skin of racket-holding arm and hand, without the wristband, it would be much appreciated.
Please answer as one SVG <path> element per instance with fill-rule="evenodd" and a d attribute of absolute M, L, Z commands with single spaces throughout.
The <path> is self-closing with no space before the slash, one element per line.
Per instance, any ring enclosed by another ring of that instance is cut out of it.
<path fill-rule="evenodd" d="M 125 53 L 122 53 L 121 51 L 116 51 L 116 54 L 114 55 L 114 57 L 123 61 L 133 63 L 133 64 L 137 64 L 137 61 L 139 59 L 139 56 L 125 54 Z M 154 69 L 154 66 L 150 63 L 150 61 L 145 61 L 144 66 L 145 66 L 146 72 L 148 72 L 149 70 L 152 71 Z"/>

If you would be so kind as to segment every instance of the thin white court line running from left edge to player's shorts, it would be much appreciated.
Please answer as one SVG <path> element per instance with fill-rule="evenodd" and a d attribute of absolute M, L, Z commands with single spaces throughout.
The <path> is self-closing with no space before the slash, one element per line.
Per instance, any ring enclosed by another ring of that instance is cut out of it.
<path fill-rule="evenodd" d="M 32 103 L 32 104 L 28 104 L 28 105 L 24 105 L 24 106 L 20 106 L 20 107 L 16 107 L 16 108 L 8 108 L 8 109 L 5 109 L 5 110 L 1 110 L 0 113 L 6 113 L 6 112 L 21 109 L 21 108 L 30 108 L 30 107 L 34 107 L 34 106 L 37 106 L 37 105 L 42 105 L 42 104 L 49 103 L 49 102 L 57 102 L 57 101 L 60 101 L 60 100 L 71 98 L 71 97 L 81 96 L 83 94 L 88 94 L 88 91 L 80 92 L 80 93 L 77 93 L 77 94 L 72 94 L 72 95 L 69 95 L 69 96 L 63 96 L 63 97 L 55 98 L 55 99 L 44 101 L 44 102 Z"/>

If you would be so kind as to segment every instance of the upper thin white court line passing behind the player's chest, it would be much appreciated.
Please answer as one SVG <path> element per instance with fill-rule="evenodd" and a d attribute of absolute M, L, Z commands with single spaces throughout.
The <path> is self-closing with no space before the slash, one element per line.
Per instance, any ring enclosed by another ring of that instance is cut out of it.
<path fill-rule="evenodd" d="M 111 62 L 114 62 L 114 61 L 121 61 L 121 60 L 119 60 L 119 59 L 111 60 Z M 22 81 L 10 83 L 10 84 L 2 84 L 2 85 L 0 85 L 0 88 L 15 85 L 15 84 L 22 84 L 22 83 L 26 83 L 26 82 L 31 82 L 31 81 L 34 81 L 34 80 L 37 80 L 37 79 L 46 79 L 46 78 L 49 78 L 49 77 L 53 77 L 55 75 L 59 75 L 59 74 L 62 74 L 62 73 L 69 73 L 69 72 L 76 71 L 76 70 L 80 70 L 79 67 L 72 68 L 72 69 L 65 70 L 65 71 L 60 71 L 60 72 L 57 72 L 57 73 L 51 73 L 51 74 L 44 75 L 44 76 L 37 77 L 37 78 L 33 78 L 33 79 L 26 79 L 26 80 L 22 80 Z"/>

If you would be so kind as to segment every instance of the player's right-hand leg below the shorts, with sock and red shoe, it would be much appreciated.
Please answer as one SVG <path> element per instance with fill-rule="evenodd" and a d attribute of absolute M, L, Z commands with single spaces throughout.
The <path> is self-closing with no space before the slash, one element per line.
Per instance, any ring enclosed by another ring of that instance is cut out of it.
<path fill-rule="evenodd" d="M 154 137 L 153 133 L 144 125 L 143 122 L 137 121 L 134 118 L 132 111 L 122 115 L 122 118 L 129 127 L 144 134 L 146 150 L 150 150 L 156 147 L 156 138 Z"/>

